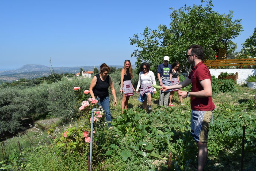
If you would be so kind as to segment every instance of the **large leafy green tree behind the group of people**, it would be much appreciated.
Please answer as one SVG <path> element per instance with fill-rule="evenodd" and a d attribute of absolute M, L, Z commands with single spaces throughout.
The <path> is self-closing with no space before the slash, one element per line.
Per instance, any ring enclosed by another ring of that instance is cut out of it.
<path fill-rule="evenodd" d="M 205 57 L 213 59 L 216 52 L 213 49 L 225 48 L 227 53 L 236 49 L 231 39 L 237 37 L 242 31 L 241 19 L 233 19 L 233 11 L 229 14 L 219 14 L 212 10 L 210 0 L 205 6 L 184 6 L 178 10 L 170 8 L 170 28 L 159 25 L 158 30 L 146 27 L 144 33 L 134 34 L 130 38 L 131 45 L 136 49 L 131 56 L 137 58 L 137 67 L 142 61 L 147 61 L 156 72 L 157 66 L 162 62 L 163 56 L 169 56 L 170 62 L 179 61 L 188 71 L 186 52 L 192 44 L 201 45 L 205 49 Z"/>

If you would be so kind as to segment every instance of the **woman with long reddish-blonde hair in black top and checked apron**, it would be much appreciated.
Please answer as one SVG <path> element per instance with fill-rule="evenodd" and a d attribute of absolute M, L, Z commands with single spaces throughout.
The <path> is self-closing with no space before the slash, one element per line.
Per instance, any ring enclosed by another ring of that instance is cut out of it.
<path fill-rule="evenodd" d="M 127 109 L 128 100 L 130 96 L 134 95 L 135 89 L 132 86 L 132 66 L 130 60 L 124 61 L 124 68 L 121 71 L 121 88 L 120 92 L 123 93 L 123 100 L 121 103 L 122 112 L 123 109 Z"/>

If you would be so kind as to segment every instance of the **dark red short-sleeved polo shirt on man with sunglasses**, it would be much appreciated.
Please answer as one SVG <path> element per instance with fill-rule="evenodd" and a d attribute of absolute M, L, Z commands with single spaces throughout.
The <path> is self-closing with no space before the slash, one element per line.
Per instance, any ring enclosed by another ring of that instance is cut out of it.
<path fill-rule="evenodd" d="M 212 83 L 211 73 L 202 61 L 194 66 L 194 68 L 192 68 L 192 71 L 190 72 L 188 78 L 192 81 L 191 92 L 198 92 L 204 90 L 199 82 L 201 80 L 211 79 Z M 212 102 L 212 97 L 190 97 L 190 104 L 192 110 L 209 111 L 215 108 L 215 105 Z"/>

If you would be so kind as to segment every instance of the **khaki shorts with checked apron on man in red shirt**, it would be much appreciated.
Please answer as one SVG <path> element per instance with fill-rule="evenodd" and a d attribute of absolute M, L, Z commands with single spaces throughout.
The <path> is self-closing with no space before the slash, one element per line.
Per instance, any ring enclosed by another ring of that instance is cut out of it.
<path fill-rule="evenodd" d="M 192 110 L 191 118 L 190 118 L 190 128 L 191 135 L 194 140 L 198 142 L 207 142 L 208 139 L 208 131 L 209 131 L 209 123 L 211 122 L 211 118 L 213 115 L 213 111 L 197 111 Z"/>

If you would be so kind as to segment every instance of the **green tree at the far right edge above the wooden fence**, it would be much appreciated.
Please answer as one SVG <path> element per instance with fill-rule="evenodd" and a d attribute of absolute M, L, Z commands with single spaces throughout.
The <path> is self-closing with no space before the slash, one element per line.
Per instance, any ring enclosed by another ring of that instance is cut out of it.
<path fill-rule="evenodd" d="M 254 28 L 253 35 L 247 38 L 243 45 L 243 52 L 248 52 L 250 56 L 256 57 L 256 27 Z"/>

